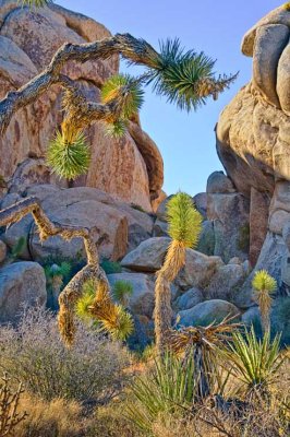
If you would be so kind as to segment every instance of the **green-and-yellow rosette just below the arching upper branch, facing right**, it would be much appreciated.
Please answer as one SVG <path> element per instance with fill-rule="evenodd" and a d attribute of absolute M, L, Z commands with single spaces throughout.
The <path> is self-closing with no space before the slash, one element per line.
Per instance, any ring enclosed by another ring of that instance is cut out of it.
<path fill-rule="evenodd" d="M 137 114 L 144 102 L 141 82 L 129 74 L 109 78 L 101 87 L 100 96 L 102 104 L 116 102 L 120 107 L 120 118 L 124 120 Z"/>

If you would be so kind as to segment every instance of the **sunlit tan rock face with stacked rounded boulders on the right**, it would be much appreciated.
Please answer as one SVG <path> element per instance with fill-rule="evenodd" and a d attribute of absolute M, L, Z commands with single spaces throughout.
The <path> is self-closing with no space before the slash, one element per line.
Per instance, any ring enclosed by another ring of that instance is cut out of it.
<path fill-rule="evenodd" d="M 252 80 L 221 113 L 216 135 L 228 176 L 250 198 L 255 265 L 266 233 L 280 236 L 290 221 L 290 11 L 277 8 L 256 23 L 242 52 L 253 58 Z"/>

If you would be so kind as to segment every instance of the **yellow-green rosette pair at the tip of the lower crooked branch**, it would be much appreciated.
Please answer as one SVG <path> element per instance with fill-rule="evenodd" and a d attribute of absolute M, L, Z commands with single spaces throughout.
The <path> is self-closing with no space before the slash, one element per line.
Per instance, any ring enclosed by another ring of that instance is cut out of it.
<path fill-rule="evenodd" d="M 101 282 L 88 281 L 76 303 L 76 315 L 85 321 L 94 320 L 99 330 L 113 340 L 124 341 L 133 332 L 133 319 L 122 305 L 116 305 Z"/>

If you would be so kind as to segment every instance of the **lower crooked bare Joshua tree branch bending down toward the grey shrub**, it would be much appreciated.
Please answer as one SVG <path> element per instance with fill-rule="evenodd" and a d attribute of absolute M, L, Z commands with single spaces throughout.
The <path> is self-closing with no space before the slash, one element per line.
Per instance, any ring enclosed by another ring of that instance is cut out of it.
<path fill-rule="evenodd" d="M 109 284 L 104 270 L 99 267 L 98 251 L 89 229 L 82 226 L 68 226 L 51 222 L 41 208 L 40 201 L 28 198 L 0 211 L 0 226 L 8 226 L 19 222 L 25 215 L 32 213 L 38 226 L 41 240 L 59 235 L 65 240 L 81 237 L 84 240 L 87 264 L 69 282 L 59 296 L 60 312 L 59 327 L 64 342 L 71 345 L 75 334 L 74 306 L 81 297 L 83 285 L 86 281 L 94 279 L 101 281 L 109 290 Z"/>

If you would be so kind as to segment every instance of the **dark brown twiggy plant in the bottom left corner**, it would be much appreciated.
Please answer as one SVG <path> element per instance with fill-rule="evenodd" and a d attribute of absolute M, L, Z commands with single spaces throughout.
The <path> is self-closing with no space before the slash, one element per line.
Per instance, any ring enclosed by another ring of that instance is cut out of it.
<path fill-rule="evenodd" d="M 27 416 L 26 412 L 19 413 L 19 403 L 24 392 L 22 383 L 13 390 L 8 374 L 1 377 L 0 382 L 0 437 L 15 436 L 15 427 Z"/>

